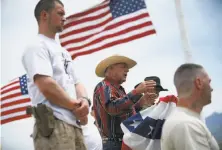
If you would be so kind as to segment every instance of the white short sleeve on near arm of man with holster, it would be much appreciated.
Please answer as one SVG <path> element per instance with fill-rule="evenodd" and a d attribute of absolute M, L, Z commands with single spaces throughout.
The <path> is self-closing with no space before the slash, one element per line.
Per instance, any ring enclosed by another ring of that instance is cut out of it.
<path fill-rule="evenodd" d="M 37 74 L 51 77 L 53 75 L 50 54 L 41 46 L 33 45 L 27 48 L 22 57 L 22 64 L 31 81 Z"/>

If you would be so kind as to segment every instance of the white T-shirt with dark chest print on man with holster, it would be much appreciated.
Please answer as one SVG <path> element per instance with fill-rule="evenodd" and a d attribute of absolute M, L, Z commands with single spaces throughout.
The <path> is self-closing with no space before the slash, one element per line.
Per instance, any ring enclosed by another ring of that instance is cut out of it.
<path fill-rule="evenodd" d="M 33 82 L 36 74 L 50 76 L 70 97 L 76 98 L 75 84 L 79 81 L 75 76 L 70 54 L 55 40 L 39 34 L 23 53 L 22 63 L 28 76 L 28 91 L 32 104 L 46 104 L 53 109 L 55 117 L 79 127 L 70 110 L 50 103 Z"/>

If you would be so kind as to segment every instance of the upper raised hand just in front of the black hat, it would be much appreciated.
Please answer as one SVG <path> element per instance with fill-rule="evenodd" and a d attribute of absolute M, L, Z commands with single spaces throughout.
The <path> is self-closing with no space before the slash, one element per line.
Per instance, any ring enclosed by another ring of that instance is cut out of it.
<path fill-rule="evenodd" d="M 149 80 L 149 81 L 144 81 L 140 83 L 140 85 L 138 85 L 135 90 L 138 94 L 141 94 L 141 93 L 153 91 L 155 86 L 156 86 L 156 82 L 153 80 Z"/>

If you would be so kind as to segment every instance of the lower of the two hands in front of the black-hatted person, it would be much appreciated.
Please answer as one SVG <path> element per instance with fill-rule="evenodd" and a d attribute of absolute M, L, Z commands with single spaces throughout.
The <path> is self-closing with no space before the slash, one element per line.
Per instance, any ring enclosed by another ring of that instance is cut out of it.
<path fill-rule="evenodd" d="M 153 103 L 155 102 L 156 98 L 158 97 L 157 94 L 155 93 L 145 93 L 141 98 L 140 98 L 140 106 L 143 107 L 148 107 L 153 105 Z"/>

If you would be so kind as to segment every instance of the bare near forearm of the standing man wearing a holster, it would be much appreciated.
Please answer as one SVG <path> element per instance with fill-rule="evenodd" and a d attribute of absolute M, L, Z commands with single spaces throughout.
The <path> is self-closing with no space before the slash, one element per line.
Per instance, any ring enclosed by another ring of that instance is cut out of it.
<path fill-rule="evenodd" d="M 74 108 L 75 103 L 51 77 L 40 77 L 35 83 L 51 103 L 69 110 Z"/>

